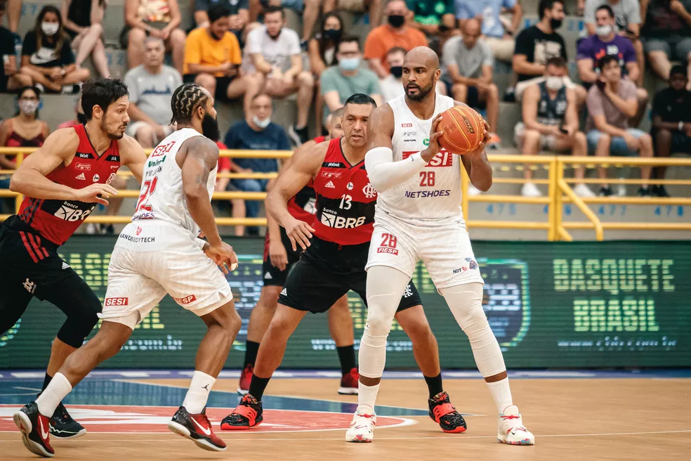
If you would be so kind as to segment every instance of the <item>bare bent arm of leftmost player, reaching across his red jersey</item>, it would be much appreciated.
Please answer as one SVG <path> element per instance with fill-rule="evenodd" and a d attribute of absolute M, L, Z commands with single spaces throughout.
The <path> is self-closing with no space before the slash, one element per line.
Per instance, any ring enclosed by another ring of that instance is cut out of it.
<path fill-rule="evenodd" d="M 29 197 L 46 200 L 80 200 L 107 205 L 105 198 L 117 195 L 117 190 L 108 184 L 94 183 L 74 189 L 46 178 L 56 168 L 72 162 L 78 147 L 77 131 L 72 128 L 55 131 L 46 138 L 43 146 L 20 164 L 12 175 L 10 189 Z"/>

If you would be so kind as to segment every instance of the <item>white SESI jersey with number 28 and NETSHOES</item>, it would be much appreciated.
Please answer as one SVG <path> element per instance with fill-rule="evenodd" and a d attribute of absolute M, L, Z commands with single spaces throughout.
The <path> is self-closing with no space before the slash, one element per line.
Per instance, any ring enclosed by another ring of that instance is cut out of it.
<path fill-rule="evenodd" d="M 454 100 L 436 95 L 434 114 L 427 120 L 413 115 L 405 96 L 389 101 L 393 110 L 393 161 L 406 160 L 429 144 L 432 120 L 454 107 Z M 420 172 L 379 194 L 377 209 L 408 223 L 463 219 L 461 211 L 461 158 L 442 149 Z"/>

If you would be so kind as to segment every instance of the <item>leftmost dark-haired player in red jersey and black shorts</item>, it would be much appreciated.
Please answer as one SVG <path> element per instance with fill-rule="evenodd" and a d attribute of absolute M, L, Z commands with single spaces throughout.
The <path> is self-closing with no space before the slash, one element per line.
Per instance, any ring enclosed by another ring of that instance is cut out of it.
<path fill-rule="evenodd" d="M 124 136 L 128 93 L 120 80 L 89 80 L 81 105 L 86 123 L 53 132 L 13 174 L 11 190 L 26 197 L 19 214 L 0 227 L 0 335 L 22 317 L 32 297 L 67 316 L 53 340 L 42 389 L 84 343 L 101 311 L 96 294 L 60 259 L 58 247 L 96 204 L 108 204 L 107 197 L 117 195 L 110 183 L 121 164 L 141 181 L 146 161 L 137 141 Z M 63 439 L 86 434 L 59 401 L 46 415 L 46 433 L 49 426 Z"/>

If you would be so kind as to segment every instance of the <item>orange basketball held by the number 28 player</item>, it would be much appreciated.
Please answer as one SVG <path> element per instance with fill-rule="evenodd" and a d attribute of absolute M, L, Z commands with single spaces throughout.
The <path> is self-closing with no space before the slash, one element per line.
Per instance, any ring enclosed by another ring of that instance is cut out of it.
<path fill-rule="evenodd" d="M 475 110 L 454 105 L 442 113 L 438 131 L 444 132 L 439 138 L 442 148 L 463 155 L 477 149 L 485 138 L 485 123 Z"/>

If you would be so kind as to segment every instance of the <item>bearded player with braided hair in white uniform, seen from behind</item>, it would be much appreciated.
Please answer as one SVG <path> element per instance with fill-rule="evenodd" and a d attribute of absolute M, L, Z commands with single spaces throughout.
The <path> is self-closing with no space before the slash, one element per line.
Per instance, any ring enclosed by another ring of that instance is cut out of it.
<path fill-rule="evenodd" d="M 218 236 L 211 209 L 218 146 L 209 138 L 218 131 L 216 110 L 211 94 L 195 84 L 176 89 L 171 107 L 177 131 L 147 161 L 133 222 L 120 233 L 110 259 L 100 330 L 67 358 L 35 402 L 14 415 L 25 446 L 37 455 L 55 453 L 44 431 L 46 415 L 88 372 L 121 349 L 166 293 L 208 328 L 190 389 L 168 427 L 206 450 L 226 448 L 205 415 L 211 387 L 242 323 L 228 281 L 216 267 L 227 273 L 226 264 L 237 264 L 232 247 Z M 200 229 L 208 242 L 197 238 Z"/>

